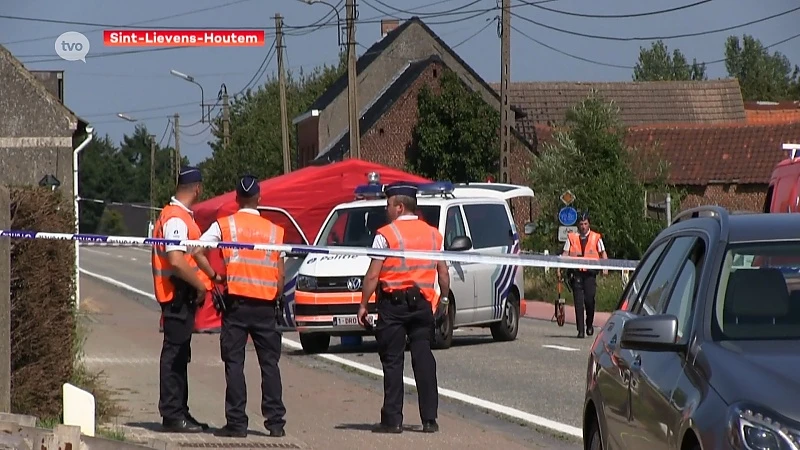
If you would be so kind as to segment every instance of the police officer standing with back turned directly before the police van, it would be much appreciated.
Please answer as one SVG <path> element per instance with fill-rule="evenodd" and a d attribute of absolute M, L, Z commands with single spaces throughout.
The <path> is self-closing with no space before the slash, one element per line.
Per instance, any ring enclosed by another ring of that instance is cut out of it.
<path fill-rule="evenodd" d="M 373 248 L 429 250 L 442 249 L 439 230 L 417 217 L 417 187 L 404 183 L 386 186 L 386 212 L 390 223 L 378 229 Z M 436 292 L 438 285 L 440 295 Z M 377 292 L 376 292 L 377 289 Z M 444 261 L 373 257 L 361 293 L 359 322 L 369 328 L 367 304 L 376 294 L 378 320 L 375 339 L 383 366 L 383 408 L 377 433 L 403 431 L 403 358 L 406 336 L 419 397 L 422 431 L 439 430 L 436 360 L 431 351 L 434 311 L 447 313 L 450 276 Z"/>

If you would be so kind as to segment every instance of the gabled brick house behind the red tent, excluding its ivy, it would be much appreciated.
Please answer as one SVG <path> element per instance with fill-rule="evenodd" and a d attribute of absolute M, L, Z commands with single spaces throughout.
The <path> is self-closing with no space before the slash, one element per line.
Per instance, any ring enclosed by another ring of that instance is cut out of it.
<path fill-rule="evenodd" d="M 413 151 L 417 96 L 423 86 L 438 89 L 443 71 L 455 72 L 488 104 L 500 109 L 497 93 L 419 18 L 402 24 L 383 21 L 383 37 L 357 62 L 361 159 L 403 169 Z M 513 116 L 513 113 L 512 113 Z M 297 130 L 299 166 L 326 164 L 349 156 L 347 75 L 342 75 L 292 123 Z M 535 135 L 512 129 L 511 180 L 529 184 Z M 530 220 L 526 202 L 514 203 L 516 222 Z"/>

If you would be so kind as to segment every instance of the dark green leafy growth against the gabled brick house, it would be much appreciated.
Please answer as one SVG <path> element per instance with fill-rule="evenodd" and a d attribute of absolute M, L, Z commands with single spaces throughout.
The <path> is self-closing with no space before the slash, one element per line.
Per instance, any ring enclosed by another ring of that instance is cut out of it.
<path fill-rule="evenodd" d="M 438 94 L 428 86 L 417 97 L 419 120 L 408 169 L 434 180 L 466 182 L 496 175 L 499 169 L 500 114 L 445 70 Z"/>

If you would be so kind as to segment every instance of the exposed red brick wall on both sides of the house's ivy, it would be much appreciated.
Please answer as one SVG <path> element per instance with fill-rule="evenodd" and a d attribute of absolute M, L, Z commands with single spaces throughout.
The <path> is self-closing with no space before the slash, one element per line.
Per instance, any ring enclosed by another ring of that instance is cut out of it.
<path fill-rule="evenodd" d="M 389 111 L 369 130 L 362 130 L 361 158 L 385 166 L 405 170 L 406 156 L 413 145 L 414 128 L 419 118 L 417 97 L 422 86 L 430 86 L 434 92 L 439 89 L 438 78 L 447 70 L 441 64 L 434 63 L 417 78 Z M 511 146 L 511 182 L 529 185 L 529 167 L 533 155 L 516 139 Z M 483 180 L 476 180 L 483 181 Z M 512 202 L 514 221 L 520 233 L 526 222 L 530 221 L 530 202 L 527 199 L 516 199 Z"/>

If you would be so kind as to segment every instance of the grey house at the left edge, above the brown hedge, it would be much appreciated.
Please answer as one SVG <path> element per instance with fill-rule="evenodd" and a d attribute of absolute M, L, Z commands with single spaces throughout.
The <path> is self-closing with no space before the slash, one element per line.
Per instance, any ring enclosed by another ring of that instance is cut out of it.
<path fill-rule="evenodd" d="M 72 198 L 72 153 L 87 123 L 63 104 L 61 72 L 30 72 L 0 45 L 0 183 L 48 175 Z"/>

